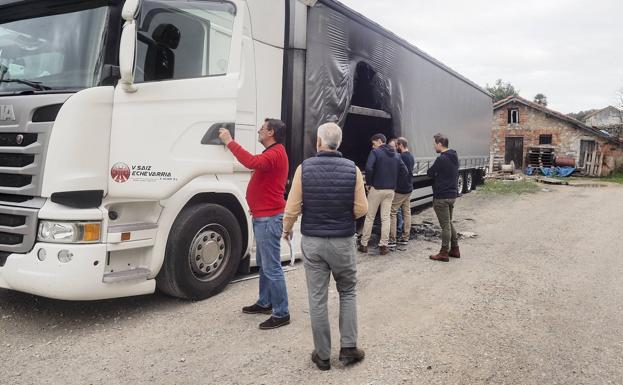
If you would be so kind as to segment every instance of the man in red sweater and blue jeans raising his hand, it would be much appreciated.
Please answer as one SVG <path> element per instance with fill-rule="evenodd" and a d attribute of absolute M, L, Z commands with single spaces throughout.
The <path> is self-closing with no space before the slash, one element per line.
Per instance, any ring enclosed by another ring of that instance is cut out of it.
<path fill-rule="evenodd" d="M 288 155 L 283 146 L 286 125 L 281 120 L 266 119 L 258 131 L 258 141 L 266 148 L 252 155 L 221 128 L 219 138 L 238 161 L 253 170 L 247 187 L 247 203 L 253 216 L 256 260 L 260 268 L 260 293 L 257 302 L 242 308 L 247 314 L 272 314 L 260 329 L 275 329 L 290 323 L 288 292 L 281 267 L 281 233 Z"/>

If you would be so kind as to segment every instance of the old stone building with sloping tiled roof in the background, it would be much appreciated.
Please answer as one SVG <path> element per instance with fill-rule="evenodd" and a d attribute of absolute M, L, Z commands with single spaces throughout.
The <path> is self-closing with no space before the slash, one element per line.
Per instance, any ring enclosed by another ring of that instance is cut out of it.
<path fill-rule="evenodd" d="M 513 161 L 517 169 L 524 170 L 534 164 L 538 154 L 543 159 L 566 158 L 578 170 L 590 170 L 593 175 L 606 176 L 623 167 L 623 141 L 607 132 L 519 96 L 494 104 L 491 131 L 494 168 Z"/>

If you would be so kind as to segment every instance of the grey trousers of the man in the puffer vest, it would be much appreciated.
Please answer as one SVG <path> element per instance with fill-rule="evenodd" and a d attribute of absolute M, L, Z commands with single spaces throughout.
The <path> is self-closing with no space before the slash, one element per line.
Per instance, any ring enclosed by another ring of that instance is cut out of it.
<path fill-rule="evenodd" d="M 357 346 L 357 264 L 355 238 L 318 238 L 303 236 L 309 316 L 314 347 L 318 357 L 331 356 L 331 326 L 327 301 L 329 278 L 333 274 L 340 295 L 340 344 L 342 348 Z"/>

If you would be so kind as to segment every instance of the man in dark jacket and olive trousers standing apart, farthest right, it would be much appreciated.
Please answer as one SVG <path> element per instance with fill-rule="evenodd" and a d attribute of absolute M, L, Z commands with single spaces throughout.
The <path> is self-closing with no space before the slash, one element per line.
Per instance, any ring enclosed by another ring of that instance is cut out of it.
<path fill-rule="evenodd" d="M 437 134 L 435 151 L 440 154 L 427 174 L 433 178 L 433 208 L 441 226 L 441 251 L 431 255 L 434 261 L 448 262 L 448 257 L 460 258 L 459 242 L 454 225 L 452 212 L 458 196 L 459 157 L 454 150 L 448 149 L 448 138 Z"/>

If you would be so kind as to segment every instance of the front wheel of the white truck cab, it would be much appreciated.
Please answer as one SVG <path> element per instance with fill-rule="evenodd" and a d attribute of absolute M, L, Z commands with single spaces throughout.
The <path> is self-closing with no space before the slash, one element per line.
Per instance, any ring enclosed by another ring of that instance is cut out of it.
<path fill-rule="evenodd" d="M 216 204 L 185 208 L 175 219 L 156 282 L 173 297 L 205 299 L 231 281 L 242 254 L 236 217 Z"/>

